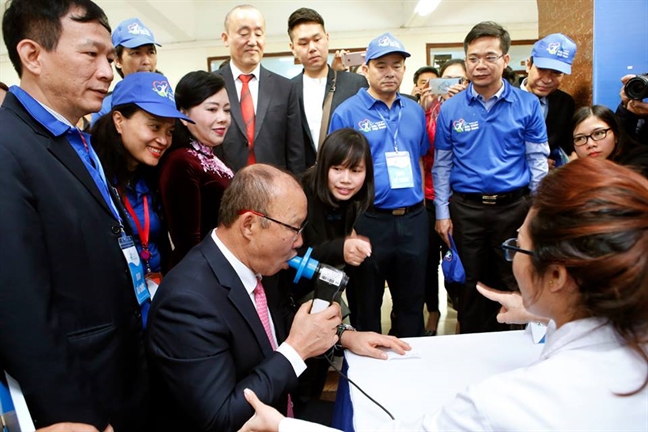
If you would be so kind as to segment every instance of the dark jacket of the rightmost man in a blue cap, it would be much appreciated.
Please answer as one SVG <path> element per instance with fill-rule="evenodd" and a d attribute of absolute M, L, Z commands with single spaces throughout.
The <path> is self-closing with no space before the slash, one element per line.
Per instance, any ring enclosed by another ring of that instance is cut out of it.
<path fill-rule="evenodd" d="M 574 151 L 572 140 L 571 118 L 574 115 L 574 98 L 562 90 L 556 90 L 547 96 L 549 111 L 545 123 L 551 150 L 561 147 L 567 155 Z"/>

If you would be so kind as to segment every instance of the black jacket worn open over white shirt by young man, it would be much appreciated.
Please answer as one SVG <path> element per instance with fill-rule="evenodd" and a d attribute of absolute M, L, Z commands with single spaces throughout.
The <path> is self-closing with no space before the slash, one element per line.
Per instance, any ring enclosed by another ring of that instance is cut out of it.
<path fill-rule="evenodd" d="M 326 95 L 331 90 L 331 86 L 333 85 L 333 69 L 329 67 L 328 71 L 328 77 L 326 78 L 326 92 L 324 93 L 324 99 L 322 99 L 322 106 L 324 106 Z M 306 120 L 306 110 L 304 109 L 304 72 L 300 73 L 292 80 L 295 83 L 297 94 L 299 95 L 299 107 L 301 109 L 301 118 L 303 125 L 302 129 L 304 131 L 304 144 L 306 146 L 306 167 L 310 167 L 315 163 L 317 151 L 315 150 L 314 142 L 317 141 L 319 137 L 311 136 L 310 128 L 308 127 L 308 121 Z M 335 109 L 342 102 L 358 93 L 358 90 L 360 90 L 361 88 L 368 86 L 369 84 L 367 84 L 367 79 L 362 75 L 349 72 L 338 72 L 337 80 L 335 83 L 335 92 L 333 93 L 333 100 L 331 101 L 331 115 L 333 115 L 333 111 L 335 111 Z M 329 117 L 329 123 L 330 121 L 331 119 Z M 326 131 L 328 131 L 328 124 L 326 125 Z"/>

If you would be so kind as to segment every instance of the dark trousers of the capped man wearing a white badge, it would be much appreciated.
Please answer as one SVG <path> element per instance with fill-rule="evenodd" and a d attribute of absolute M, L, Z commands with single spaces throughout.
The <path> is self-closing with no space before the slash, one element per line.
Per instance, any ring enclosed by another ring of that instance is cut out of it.
<path fill-rule="evenodd" d="M 367 211 L 355 230 L 371 241 L 372 254 L 360 266 L 347 267 L 353 283 L 347 288 L 351 323 L 358 330 L 381 332 L 385 281 L 392 295 L 398 337 L 421 336 L 428 250 L 424 206 L 402 216 Z"/>

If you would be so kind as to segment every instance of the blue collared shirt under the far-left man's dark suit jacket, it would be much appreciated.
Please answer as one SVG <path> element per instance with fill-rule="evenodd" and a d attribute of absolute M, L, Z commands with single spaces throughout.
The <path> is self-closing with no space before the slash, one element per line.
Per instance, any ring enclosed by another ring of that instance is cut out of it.
<path fill-rule="evenodd" d="M 65 117 L 34 99 L 20 87 L 11 86 L 9 91 L 16 96 L 27 112 L 53 136 L 60 137 L 61 135 L 65 135 L 65 138 L 79 155 L 83 165 L 97 185 L 115 220 L 122 223 L 121 216 L 110 195 L 103 167 L 90 143 L 90 135 L 76 129 Z"/>

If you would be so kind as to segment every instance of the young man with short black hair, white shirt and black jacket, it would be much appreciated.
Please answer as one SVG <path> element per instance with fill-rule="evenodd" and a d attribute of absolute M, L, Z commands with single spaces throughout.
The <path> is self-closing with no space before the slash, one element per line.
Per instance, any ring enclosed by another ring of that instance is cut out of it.
<path fill-rule="evenodd" d="M 313 9 L 300 8 L 290 15 L 288 36 L 290 49 L 304 65 L 304 70 L 293 78 L 293 82 L 299 94 L 306 167 L 310 167 L 315 163 L 317 148 L 326 137 L 335 108 L 369 84 L 362 75 L 336 72 L 328 65 L 329 35 L 324 28 L 324 19 Z M 336 61 L 341 61 L 339 52 L 333 63 Z M 331 92 L 332 99 L 327 113 L 324 106 L 326 97 Z"/>

